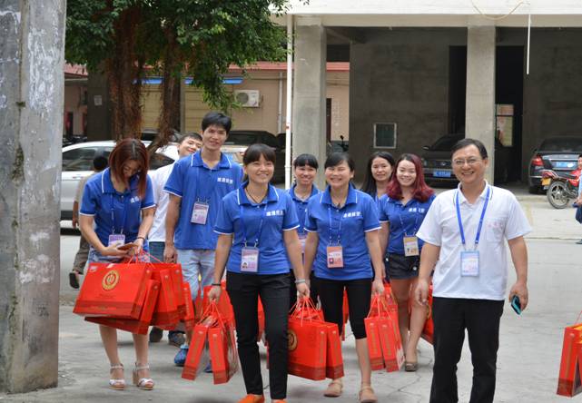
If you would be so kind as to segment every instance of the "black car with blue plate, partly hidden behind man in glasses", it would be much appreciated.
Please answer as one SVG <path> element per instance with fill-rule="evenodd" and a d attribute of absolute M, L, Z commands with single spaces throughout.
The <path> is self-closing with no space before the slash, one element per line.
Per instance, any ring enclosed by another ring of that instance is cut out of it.
<path fill-rule="evenodd" d="M 456 183 L 457 178 L 450 164 L 450 151 L 465 134 L 446 134 L 433 143 L 422 147 L 424 178 L 431 183 Z M 508 182 L 509 150 L 495 139 L 495 182 Z"/>

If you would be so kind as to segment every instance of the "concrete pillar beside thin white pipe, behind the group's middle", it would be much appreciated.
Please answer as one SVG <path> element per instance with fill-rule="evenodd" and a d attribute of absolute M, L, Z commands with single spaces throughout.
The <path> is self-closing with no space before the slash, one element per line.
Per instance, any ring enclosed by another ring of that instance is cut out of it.
<path fill-rule="evenodd" d="M 295 76 L 293 77 L 293 157 L 309 152 L 322 167 L 325 162 L 326 33 L 321 19 L 299 17 L 295 27 Z M 317 186 L 325 183 L 323 169 Z"/>

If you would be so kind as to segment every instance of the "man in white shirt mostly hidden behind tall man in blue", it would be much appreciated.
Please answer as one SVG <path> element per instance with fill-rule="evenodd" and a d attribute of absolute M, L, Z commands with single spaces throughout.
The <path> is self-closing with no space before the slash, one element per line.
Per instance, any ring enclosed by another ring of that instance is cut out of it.
<path fill-rule="evenodd" d="M 182 137 L 178 145 L 178 155 L 180 158 L 187 157 L 197 152 L 200 147 L 202 147 L 202 136 L 198 133 L 187 133 Z M 163 192 L 163 187 L 168 181 L 172 170 L 173 163 L 149 173 L 153 185 L 153 201 L 157 208 L 155 210 L 155 216 L 153 217 L 152 229 L 148 235 L 148 241 L 150 253 L 155 259 L 161 261 L 163 261 L 163 249 L 165 248 L 166 211 L 168 211 L 168 202 L 170 201 L 169 194 Z M 173 346 L 180 347 L 184 342 L 182 333 L 182 331 L 170 330 L 168 342 Z M 153 327 L 150 331 L 150 341 L 155 343 L 160 341 L 162 337 L 163 330 Z"/>

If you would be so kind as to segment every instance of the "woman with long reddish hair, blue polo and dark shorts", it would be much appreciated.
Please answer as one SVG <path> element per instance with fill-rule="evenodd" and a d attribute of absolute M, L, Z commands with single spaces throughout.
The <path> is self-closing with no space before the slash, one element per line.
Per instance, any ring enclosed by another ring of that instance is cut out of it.
<path fill-rule="evenodd" d="M 387 193 L 380 199 L 380 243 L 388 245 L 388 277 L 398 302 L 400 334 L 405 348 L 405 367 L 418 369 L 417 345 L 427 318 L 426 307 L 415 302 L 409 314 L 410 292 L 419 277 L 423 242 L 417 238 L 420 224 L 435 198 L 424 182 L 422 163 L 414 154 L 402 154 L 396 162 Z"/>

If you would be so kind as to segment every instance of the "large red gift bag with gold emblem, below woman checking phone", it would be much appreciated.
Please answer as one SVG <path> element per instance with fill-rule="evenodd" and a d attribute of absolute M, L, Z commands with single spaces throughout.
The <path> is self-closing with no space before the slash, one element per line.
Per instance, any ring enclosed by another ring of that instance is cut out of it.
<path fill-rule="evenodd" d="M 139 319 L 151 277 L 147 263 L 90 263 L 73 312 L 81 316 Z"/>

